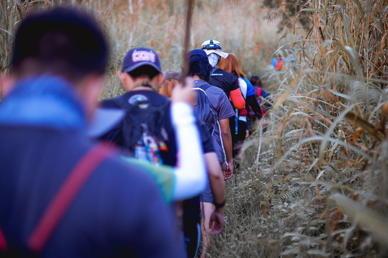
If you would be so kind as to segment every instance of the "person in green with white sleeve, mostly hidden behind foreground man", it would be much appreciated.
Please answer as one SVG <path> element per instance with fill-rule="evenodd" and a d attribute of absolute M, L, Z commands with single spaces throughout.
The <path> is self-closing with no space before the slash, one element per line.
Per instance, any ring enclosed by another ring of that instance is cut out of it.
<path fill-rule="evenodd" d="M 177 98 L 175 95 L 177 94 L 182 94 L 179 84 L 177 84 L 177 88 L 171 92 L 170 97 L 175 100 Z M 193 95 L 195 96 L 194 93 Z M 132 164 L 135 163 L 152 175 L 156 184 L 159 186 L 166 203 L 197 196 L 203 190 L 206 180 L 206 171 L 201 170 L 201 165 L 199 165 L 203 162 L 203 158 L 200 155 L 200 146 L 197 144 L 200 141 L 198 138 L 199 135 L 194 133 L 187 134 L 187 131 L 196 130 L 197 125 L 194 122 L 182 123 L 182 121 L 185 121 L 186 116 L 187 114 L 185 114 L 185 112 L 173 112 L 171 114 L 174 129 L 178 136 L 177 145 L 178 148 L 182 150 L 177 157 L 177 166 L 155 165 L 146 160 L 121 156 L 123 160 Z M 124 110 L 98 108 L 88 126 L 87 136 L 92 139 L 98 139 L 119 124 L 124 117 Z M 107 121 L 111 122 L 107 123 Z M 206 138 L 206 141 L 209 140 L 212 146 L 213 143 L 211 142 L 210 134 L 208 135 L 208 138 Z M 194 143 L 194 145 L 192 143 Z"/>

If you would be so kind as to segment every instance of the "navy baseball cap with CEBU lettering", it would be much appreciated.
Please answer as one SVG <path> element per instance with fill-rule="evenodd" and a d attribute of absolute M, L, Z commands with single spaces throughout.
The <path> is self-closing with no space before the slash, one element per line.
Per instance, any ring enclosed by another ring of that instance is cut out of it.
<path fill-rule="evenodd" d="M 158 72 L 162 72 L 158 54 L 156 54 L 153 49 L 145 47 L 132 48 L 129 50 L 124 57 L 121 70 L 123 72 L 132 72 L 143 65 L 149 65 Z"/>

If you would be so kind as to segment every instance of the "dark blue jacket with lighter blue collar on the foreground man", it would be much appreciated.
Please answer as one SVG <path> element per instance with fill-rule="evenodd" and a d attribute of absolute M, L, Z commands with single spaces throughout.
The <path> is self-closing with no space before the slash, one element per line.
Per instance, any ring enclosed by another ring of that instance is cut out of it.
<path fill-rule="evenodd" d="M 0 228 L 10 250 L 31 231 L 93 143 L 71 86 L 57 77 L 20 81 L 0 106 Z M 43 257 L 174 257 L 172 216 L 151 177 L 118 157 L 81 188 Z"/>

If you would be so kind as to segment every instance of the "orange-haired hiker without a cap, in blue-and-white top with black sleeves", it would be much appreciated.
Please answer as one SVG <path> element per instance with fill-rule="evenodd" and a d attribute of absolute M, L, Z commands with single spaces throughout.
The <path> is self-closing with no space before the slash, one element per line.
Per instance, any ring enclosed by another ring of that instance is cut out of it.
<path fill-rule="evenodd" d="M 246 106 L 242 110 L 235 109 L 236 119 L 230 120 L 230 128 L 237 128 L 232 133 L 233 145 L 233 158 L 241 158 L 241 147 L 246 137 L 248 137 L 248 110 L 252 110 L 256 117 L 259 119 L 262 117 L 262 109 L 258 105 L 255 98 L 255 91 L 253 90 L 252 84 L 245 78 L 245 74 L 242 72 L 239 60 L 234 53 L 229 53 L 227 58 L 223 58 L 220 62 L 220 68 L 227 72 L 231 72 L 238 77 L 239 86 L 241 89 L 242 96 L 246 100 Z M 237 122 L 237 124 L 236 124 Z"/>

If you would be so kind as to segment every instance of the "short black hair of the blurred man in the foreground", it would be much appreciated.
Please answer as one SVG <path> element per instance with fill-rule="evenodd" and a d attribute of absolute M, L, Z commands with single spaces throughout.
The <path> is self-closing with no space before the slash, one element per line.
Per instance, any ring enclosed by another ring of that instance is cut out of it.
<path fill-rule="evenodd" d="M 97 21 L 85 11 L 56 7 L 29 15 L 14 41 L 12 69 L 18 75 L 52 73 L 78 81 L 104 74 L 108 46 Z"/>

